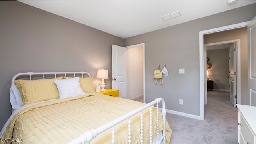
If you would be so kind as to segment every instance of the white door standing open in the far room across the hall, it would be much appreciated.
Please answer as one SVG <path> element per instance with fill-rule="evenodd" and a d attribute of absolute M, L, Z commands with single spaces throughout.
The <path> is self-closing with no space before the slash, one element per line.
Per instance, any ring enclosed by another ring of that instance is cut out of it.
<path fill-rule="evenodd" d="M 229 47 L 229 89 L 230 102 L 236 107 L 236 43 Z"/>

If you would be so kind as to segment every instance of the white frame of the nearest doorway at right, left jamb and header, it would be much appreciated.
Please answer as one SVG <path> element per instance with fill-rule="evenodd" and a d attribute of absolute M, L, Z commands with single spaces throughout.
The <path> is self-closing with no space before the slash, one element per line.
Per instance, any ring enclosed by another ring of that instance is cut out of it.
<path fill-rule="evenodd" d="M 250 21 L 199 32 L 200 120 L 204 120 L 204 35 L 248 26 Z"/>

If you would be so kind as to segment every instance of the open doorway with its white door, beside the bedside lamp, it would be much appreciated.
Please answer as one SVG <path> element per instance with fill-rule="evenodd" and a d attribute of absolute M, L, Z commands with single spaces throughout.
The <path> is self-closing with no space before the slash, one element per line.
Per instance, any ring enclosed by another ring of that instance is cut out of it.
<path fill-rule="evenodd" d="M 135 59 L 136 62 L 130 60 L 128 66 L 128 49 L 130 52 L 130 59 Z M 121 47 L 112 45 L 112 88 L 119 90 L 119 97 L 125 99 L 136 99 L 142 96 L 141 102 L 145 102 L 145 44 L 131 45 Z M 135 64 L 137 63 L 137 64 Z M 136 66 L 135 66 L 136 65 Z M 139 68 L 138 68 L 139 67 Z M 135 71 L 135 70 L 136 71 Z M 137 71 L 139 69 L 139 72 Z M 134 70 L 134 71 L 133 71 Z M 133 74 L 135 72 L 135 74 Z M 138 75 L 140 73 L 140 75 Z M 136 75 L 136 76 L 134 76 Z M 136 78 L 136 77 L 139 77 Z M 134 79 L 135 78 L 135 79 Z M 129 85 L 135 85 L 135 88 L 129 88 Z M 140 85 L 139 90 L 138 85 Z M 141 86 L 142 85 L 142 86 Z M 136 89 L 136 90 L 134 90 Z M 136 93 L 134 94 L 134 91 Z"/>

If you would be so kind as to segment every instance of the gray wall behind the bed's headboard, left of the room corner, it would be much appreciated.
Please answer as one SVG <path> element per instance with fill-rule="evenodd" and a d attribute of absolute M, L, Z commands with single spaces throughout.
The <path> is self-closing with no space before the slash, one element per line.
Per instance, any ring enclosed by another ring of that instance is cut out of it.
<path fill-rule="evenodd" d="M 111 45 L 124 39 L 17 1 L 0 1 L 0 128 L 11 114 L 9 88 L 21 72 L 108 69 Z"/>

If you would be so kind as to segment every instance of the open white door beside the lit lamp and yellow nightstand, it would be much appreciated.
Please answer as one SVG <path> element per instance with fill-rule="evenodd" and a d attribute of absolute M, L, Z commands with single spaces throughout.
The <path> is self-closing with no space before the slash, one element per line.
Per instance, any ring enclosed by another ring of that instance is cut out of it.
<path fill-rule="evenodd" d="M 119 90 L 119 97 L 127 97 L 127 48 L 112 45 L 112 89 Z"/>

